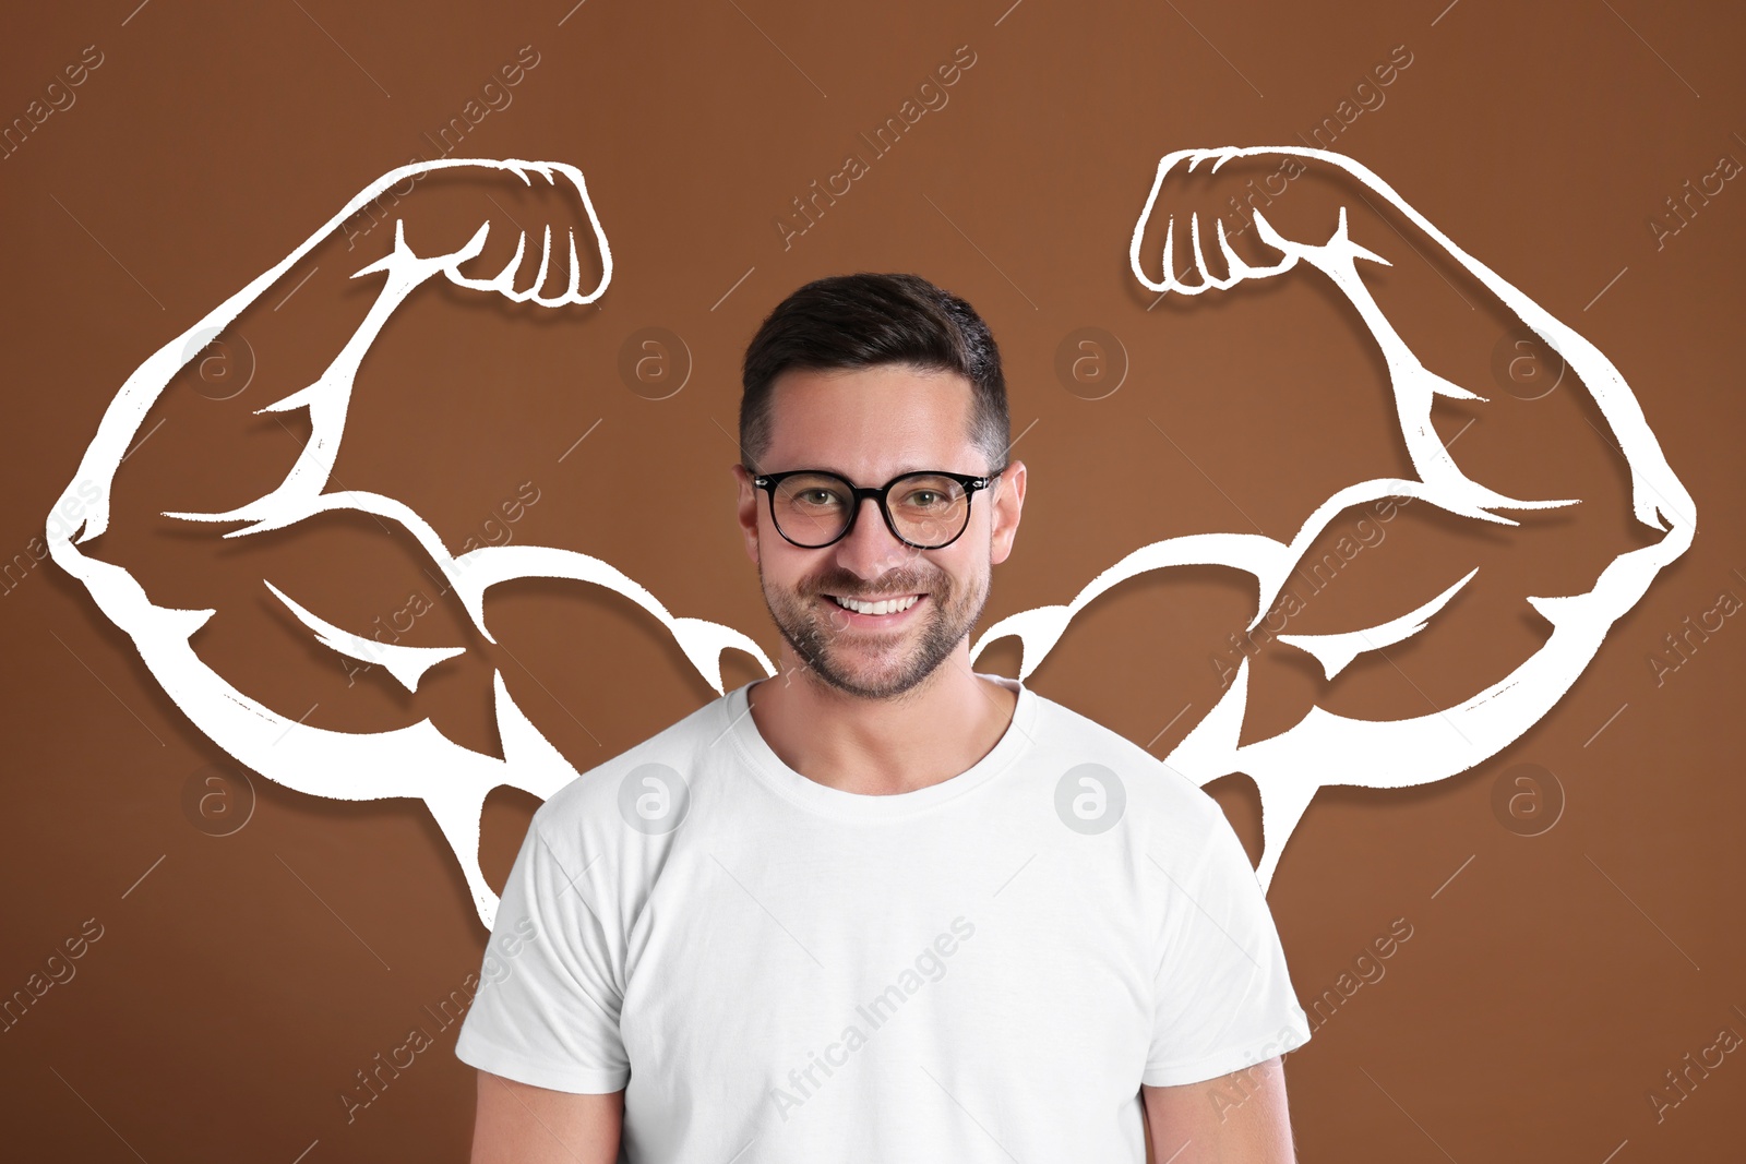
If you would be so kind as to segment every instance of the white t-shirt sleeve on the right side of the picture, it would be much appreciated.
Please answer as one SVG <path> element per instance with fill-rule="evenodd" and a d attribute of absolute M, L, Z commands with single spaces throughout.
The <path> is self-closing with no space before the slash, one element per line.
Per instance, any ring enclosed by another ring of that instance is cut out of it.
<path fill-rule="evenodd" d="M 1213 805 L 1198 860 L 1165 878 L 1152 1044 L 1142 1084 L 1229 1075 L 1310 1042 L 1268 899 Z"/>

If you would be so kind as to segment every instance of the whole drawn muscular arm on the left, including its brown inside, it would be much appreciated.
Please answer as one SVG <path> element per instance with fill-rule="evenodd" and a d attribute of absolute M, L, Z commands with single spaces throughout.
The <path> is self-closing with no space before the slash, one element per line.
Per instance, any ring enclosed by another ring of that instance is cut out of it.
<path fill-rule="evenodd" d="M 365 232 L 360 213 L 382 218 Z M 391 171 L 133 372 L 56 506 L 65 513 L 66 503 L 82 503 L 82 525 L 59 534 L 51 525 L 56 562 L 86 583 L 173 702 L 237 761 L 316 796 L 424 799 L 487 928 L 496 894 L 478 867 L 485 794 L 508 784 L 545 798 L 576 775 L 484 658 L 482 644 L 496 644 L 484 620 L 487 588 L 520 578 L 609 588 L 641 607 L 634 614 L 663 625 L 718 684 L 711 667 L 719 668 L 719 651 L 751 640 L 672 618 L 643 586 L 583 553 L 450 546 L 395 496 L 393 482 L 347 489 L 333 469 L 354 379 L 400 311 L 443 291 L 475 295 L 475 314 L 487 318 L 503 311 L 501 300 L 512 311 L 580 305 L 599 295 L 609 270 L 574 168 L 430 162 Z M 492 297 L 499 302 L 489 304 Z M 218 353 L 243 391 L 211 375 Z M 250 366 L 253 380 L 244 379 Z M 431 389 L 419 407 L 477 391 L 464 382 Z M 215 585 L 225 571 L 236 585 Z M 236 602 L 239 590 L 253 599 Z M 190 640 L 208 623 L 196 647 Z M 307 667 L 274 665 L 313 656 L 327 660 L 316 696 L 297 686 L 314 682 Z M 461 656 L 456 667 L 491 689 L 471 747 L 450 738 L 468 731 L 450 724 L 445 733 L 421 714 L 424 675 Z M 398 705 L 333 696 L 342 674 L 342 693 L 363 674 L 377 693 L 398 691 Z"/>

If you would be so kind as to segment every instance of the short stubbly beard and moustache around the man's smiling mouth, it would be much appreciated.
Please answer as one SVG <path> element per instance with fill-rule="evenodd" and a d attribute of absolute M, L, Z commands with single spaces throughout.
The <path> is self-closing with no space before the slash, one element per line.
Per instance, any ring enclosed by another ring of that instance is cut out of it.
<path fill-rule="evenodd" d="M 826 567 L 794 590 L 775 592 L 758 564 L 765 604 L 777 630 L 807 668 L 836 691 L 889 700 L 920 686 L 964 642 L 988 602 L 990 571 L 955 586 L 945 571 L 892 571 L 864 581 Z M 850 630 L 829 593 L 925 593 L 920 621 L 901 630 Z"/>

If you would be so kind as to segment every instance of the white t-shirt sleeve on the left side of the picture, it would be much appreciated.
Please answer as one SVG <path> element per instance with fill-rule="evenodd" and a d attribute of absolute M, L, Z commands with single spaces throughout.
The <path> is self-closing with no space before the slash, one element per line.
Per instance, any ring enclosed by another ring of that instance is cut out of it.
<path fill-rule="evenodd" d="M 454 1054 L 534 1087 L 622 1091 L 630 1061 L 620 1037 L 618 927 L 588 880 L 590 862 L 555 850 L 534 817 L 503 887 Z"/>

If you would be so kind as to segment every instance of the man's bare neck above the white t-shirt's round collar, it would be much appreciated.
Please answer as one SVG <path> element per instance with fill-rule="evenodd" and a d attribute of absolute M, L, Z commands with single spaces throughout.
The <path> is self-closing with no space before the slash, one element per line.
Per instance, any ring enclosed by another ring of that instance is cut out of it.
<path fill-rule="evenodd" d="M 967 771 L 1006 735 L 1018 695 L 971 672 L 962 646 L 908 693 L 840 691 L 784 651 L 773 679 L 747 691 L 777 757 L 826 787 L 863 796 L 913 792 Z"/>

